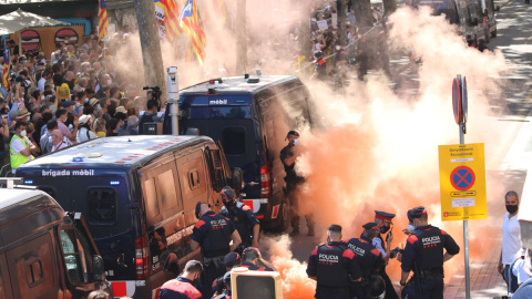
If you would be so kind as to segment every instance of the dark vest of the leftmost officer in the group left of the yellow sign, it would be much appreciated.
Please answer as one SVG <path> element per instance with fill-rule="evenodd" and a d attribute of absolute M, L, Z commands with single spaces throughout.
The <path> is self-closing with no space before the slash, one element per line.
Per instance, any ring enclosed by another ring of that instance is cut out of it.
<path fill-rule="evenodd" d="M 318 286 L 347 288 L 349 277 L 342 259 L 344 246 L 318 246 Z"/>

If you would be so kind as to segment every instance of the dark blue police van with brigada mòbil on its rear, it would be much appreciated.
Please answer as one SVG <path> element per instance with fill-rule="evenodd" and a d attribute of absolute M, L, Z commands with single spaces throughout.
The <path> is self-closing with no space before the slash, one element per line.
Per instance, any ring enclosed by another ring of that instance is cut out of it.
<path fill-rule="evenodd" d="M 219 190 L 242 185 L 204 136 L 91 140 L 23 164 L 24 183 L 65 210 L 81 212 L 115 297 L 154 298 L 200 250 L 190 243 L 197 202 L 222 207 Z"/>

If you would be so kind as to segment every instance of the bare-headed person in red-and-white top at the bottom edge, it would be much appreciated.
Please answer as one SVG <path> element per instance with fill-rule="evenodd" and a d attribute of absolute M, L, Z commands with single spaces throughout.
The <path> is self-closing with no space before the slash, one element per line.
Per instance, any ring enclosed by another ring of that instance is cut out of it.
<path fill-rule="evenodd" d="M 158 298 L 161 299 L 198 299 L 202 293 L 194 287 L 195 281 L 200 278 L 203 271 L 202 264 L 197 260 L 188 260 L 185 265 L 183 275 L 176 279 L 166 281 L 161 287 Z"/>

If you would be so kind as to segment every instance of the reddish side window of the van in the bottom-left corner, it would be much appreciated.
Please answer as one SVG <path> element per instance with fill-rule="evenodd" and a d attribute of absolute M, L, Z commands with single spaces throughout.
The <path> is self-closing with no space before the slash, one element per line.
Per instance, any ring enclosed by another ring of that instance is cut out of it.
<path fill-rule="evenodd" d="M 13 298 L 58 296 L 52 248 L 50 234 L 45 234 L 7 252 Z"/>

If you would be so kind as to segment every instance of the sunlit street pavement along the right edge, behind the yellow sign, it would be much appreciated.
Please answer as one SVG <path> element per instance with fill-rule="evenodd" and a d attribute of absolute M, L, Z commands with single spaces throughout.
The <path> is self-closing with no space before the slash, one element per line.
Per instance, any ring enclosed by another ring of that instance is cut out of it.
<path fill-rule="evenodd" d="M 499 2 L 501 11 L 498 13 L 498 38 L 492 39 L 490 49 L 500 49 L 511 71 L 509 76 L 497 78 L 504 86 L 501 101 L 492 101 L 492 110 L 499 110 L 499 122 L 508 130 L 508 147 L 499 169 L 507 189 L 515 189 L 521 194 L 526 184 L 526 172 L 532 162 L 532 134 L 531 114 L 531 62 L 532 62 L 532 34 L 530 16 L 532 7 L 523 1 Z M 511 142 L 513 141 L 513 142 Z M 528 184 L 532 184 L 530 179 Z M 501 202 L 502 206 L 502 202 Z M 499 223 L 495 226 L 498 234 L 489 236 L 493 244 L 500 244 L 501 230 Z M 499 240 L 499 241 L 498 241 Z M 487 240 L 489 244 L 490 241 Z M 501 246 L 491 250 L 490 255 L 470 261 L 471 298 L 501 298 L 507 295 L 507 286 L 497 270 Z M 457 272 L 446 286 L 446 299 L 466 298 L 466 277 Z"/>

